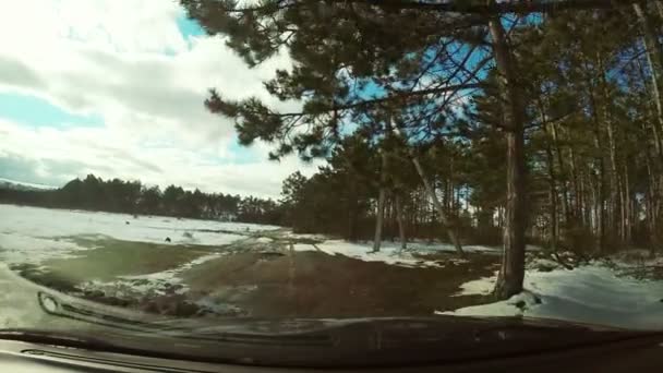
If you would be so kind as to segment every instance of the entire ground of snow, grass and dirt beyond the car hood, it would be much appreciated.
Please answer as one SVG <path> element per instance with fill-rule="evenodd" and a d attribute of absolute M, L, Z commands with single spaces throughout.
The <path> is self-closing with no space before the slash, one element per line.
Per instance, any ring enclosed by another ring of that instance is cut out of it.
<path fill-rule="evenodd" d="M 526 288 L 494 302 L 497 248 L 350 243 L 279 227 L 0 205 L 0 258 L 37 284 L 171 316 L 522 315 L 663 327 L 663 272 L 530 248 Z M 169 242 L 166 241 L 169 239 Z M 569 269 L 572 268 L 572 269 Z"/>

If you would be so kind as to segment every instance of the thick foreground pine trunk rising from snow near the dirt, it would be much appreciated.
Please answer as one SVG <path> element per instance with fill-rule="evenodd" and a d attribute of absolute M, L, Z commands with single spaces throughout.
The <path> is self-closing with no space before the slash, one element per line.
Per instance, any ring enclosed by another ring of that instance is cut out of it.
<path fill-rule="evenodd" d="M 506 40 L 501 17 L 489 22 L 495 62 L 499 72 L 501 93 L 505 113 L 507 142 L 507 202 L 504 229 L 504 254 L 495 296 L 507 299 L 522 291 L 525 278 L 526 164 L 525 164 L 525 106 L 516 79 L 511 51 Z"/>

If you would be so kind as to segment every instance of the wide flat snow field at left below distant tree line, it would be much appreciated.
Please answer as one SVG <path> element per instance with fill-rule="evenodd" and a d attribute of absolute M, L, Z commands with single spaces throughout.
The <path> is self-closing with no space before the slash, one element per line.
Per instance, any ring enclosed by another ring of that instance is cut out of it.
<path fill-rule="evenodd" d="M 0 260 L 35 262 L 83 250 L 72 237 L 96 234 L 123 241 L 186 245 L 224 245 L 246 231 L 278 229 L 275 226 L 178 219 L 99 212 L 50 209 L 0 204 Z M 219 232 L 222 230 L 222 232 Z"/>

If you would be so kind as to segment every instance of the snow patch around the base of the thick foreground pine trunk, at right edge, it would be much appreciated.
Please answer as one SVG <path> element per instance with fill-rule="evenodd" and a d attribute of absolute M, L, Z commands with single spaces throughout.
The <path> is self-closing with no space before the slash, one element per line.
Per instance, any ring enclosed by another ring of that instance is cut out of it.
<path fill-rule="evenodd" d="M 463 294 L 484 293 L 496 277 L 465 284 Z M 594 263 L 572 270 L 528 272 L 509 300 L 441 314 L 554 318 L 634 329 L 663 329 L 663 281 L 618 277 Z M 474 290 L 472 292 L 471 290 Z"/>

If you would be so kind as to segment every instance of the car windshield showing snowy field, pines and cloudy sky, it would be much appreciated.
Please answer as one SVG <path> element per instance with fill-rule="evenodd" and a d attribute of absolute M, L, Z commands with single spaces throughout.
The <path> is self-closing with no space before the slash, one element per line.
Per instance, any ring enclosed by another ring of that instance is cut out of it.
<path fill-rule="evenodd" d="M 2 2 L 0 328 L 661 329 L 662 36 L 659 1 Z"/>

